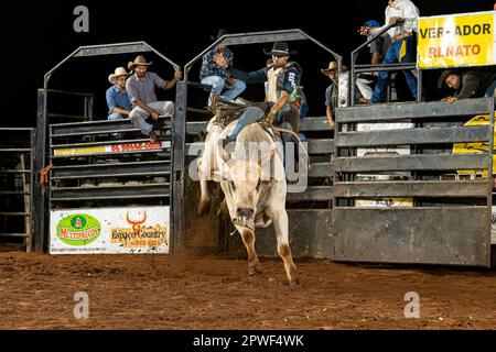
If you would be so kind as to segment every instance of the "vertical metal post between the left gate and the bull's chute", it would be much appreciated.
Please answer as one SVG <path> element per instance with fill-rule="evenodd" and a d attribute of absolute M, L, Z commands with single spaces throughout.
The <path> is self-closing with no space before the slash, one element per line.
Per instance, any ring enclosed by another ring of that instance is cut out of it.
<path fill-rule="evenodd" d="M 183 250 L 183 234 L 185 224 L 184 209 L 184 153 L 186 138 L 186 105 L 187 105 L 187 82 L 186 80 L 176 84 L 175 94 L 175 116 L 172 121 L 172 237 L 171 248 L 174 253 Z"/>

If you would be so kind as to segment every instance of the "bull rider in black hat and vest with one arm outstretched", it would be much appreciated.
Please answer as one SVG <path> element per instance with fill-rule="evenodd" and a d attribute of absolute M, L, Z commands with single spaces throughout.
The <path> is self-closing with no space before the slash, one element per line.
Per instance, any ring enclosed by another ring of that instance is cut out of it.
<path fill-rule="evenodd" d="M 300 130 L 299 110 L 302 69 L 299 64 L 289 62 L 290 51 L 284 42 L 276 42 L 272 51 L 266 52 L 266 54 L 272 56 L 273 65 L 266 65 L 266 67 L 251 73 L 230 67 L 229 74 L 247 84 L 267 81 L 266 98 L 270 108 L 267 114 L 268 123 L 272 124 L 274 119 L 279 124 L 288 122 L 292 130 L 298 133 Z M 223 57 L 214 56 L 214 59 L 219 66 L 227 67 Z M 260 108 L 249 107 L 241 113 L 233 133 L 224 142 L 235 141 L 245 127 L 262 119 L 265 114 L 266 112 Z"/>

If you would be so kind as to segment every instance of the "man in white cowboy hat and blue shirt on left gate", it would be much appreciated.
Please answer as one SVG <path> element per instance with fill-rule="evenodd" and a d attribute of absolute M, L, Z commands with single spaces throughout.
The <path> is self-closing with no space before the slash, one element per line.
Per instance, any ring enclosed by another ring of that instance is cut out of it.
<path fill-rule="evenodd" d="M 128 76 L 129 74 L 123 67 L 117 67 L 114 74 L 108 76 L 108 80 L 112 84 L 105 95 L 108 106 L 108 120 L 129 118 L 132 106 L 126 91 L 126 79 Z"/>

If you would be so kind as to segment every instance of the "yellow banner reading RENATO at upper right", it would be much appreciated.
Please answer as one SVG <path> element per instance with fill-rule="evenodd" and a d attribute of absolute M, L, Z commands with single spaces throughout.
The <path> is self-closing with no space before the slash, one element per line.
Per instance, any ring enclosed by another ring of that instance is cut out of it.
<path fill-rule="evenodd" d="M 420 18 L 419 68 L 495 65 L 494 11 Z"/>

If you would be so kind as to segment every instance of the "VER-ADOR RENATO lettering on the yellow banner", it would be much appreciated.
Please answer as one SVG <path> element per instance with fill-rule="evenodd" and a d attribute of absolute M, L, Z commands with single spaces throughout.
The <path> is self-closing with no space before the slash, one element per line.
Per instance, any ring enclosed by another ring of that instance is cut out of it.
<path fill-rule="evenodd" d="M 482 23 L 473 25 L 456 25 L 455 28 L 427 28 L 419 29 L 420 37 L 422 40 L 439 38 L 445 35 L 451 36 L 467 36 L 467 35 L 485 35 L 492 34 L 492 24 Z M 457 56 L 471 56 L 478 55 L 481 53 L 479 44 L 465 44 L 465 45 L 448 45 L 445 47 L 432 46 L 429 47 L 429 56 L 433 57 L 457 57 Z"/>

